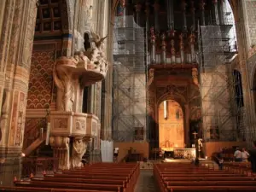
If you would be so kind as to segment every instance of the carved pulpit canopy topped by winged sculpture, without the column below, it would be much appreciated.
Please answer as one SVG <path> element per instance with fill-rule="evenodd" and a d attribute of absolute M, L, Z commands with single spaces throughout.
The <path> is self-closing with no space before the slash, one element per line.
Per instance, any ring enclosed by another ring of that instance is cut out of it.
<path fill-rule="evenodd" d="M 103 50 L 105 38 L 100 38 L 95 33 L 91 38 L 91 48 L 86 51 L 79 51 L 73 56 L 62 56 L 55 62 L 55 84 L 56 81 L 67 77 L 79 78 L 82 86 L 88 86 L 102 81 L 108 72 L 108 61 Z"/>

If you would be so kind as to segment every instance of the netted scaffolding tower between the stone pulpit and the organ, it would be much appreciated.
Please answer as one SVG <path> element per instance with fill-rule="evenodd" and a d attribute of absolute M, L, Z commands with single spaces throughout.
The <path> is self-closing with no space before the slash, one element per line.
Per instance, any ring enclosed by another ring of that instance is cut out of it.
<path fill-rule="evenodd" d="M 113 140 L 146 139 L 146 37 L 133 15 L 116 16 L 113 29 Z"/>

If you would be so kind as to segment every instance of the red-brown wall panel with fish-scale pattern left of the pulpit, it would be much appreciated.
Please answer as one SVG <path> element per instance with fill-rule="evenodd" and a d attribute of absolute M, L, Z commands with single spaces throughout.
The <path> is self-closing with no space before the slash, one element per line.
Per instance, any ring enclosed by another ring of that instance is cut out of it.
<path fill-rule="evenodd" d="M 54 50 L 32 53 L 26 108 L 49 108 L 53 85 Z"/>

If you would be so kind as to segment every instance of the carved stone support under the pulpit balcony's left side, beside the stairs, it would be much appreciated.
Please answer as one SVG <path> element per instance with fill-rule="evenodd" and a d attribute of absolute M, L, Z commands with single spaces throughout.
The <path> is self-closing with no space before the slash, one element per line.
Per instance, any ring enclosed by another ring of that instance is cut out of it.
<path fill-rule="evenodd" d="M 49 144 L 54 150 L 55 158 L 59 159 L 59 168 L 61 170 L 70 168 L 69 143 L 69 137 L 49 137 Z"/>

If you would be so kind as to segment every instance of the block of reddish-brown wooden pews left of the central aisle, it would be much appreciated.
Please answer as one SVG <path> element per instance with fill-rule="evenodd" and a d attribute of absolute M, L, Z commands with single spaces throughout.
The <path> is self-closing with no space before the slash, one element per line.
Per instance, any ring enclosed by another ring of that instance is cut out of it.
<path fill-rule="evenodd" d="M 44 174 L 44 177 L 14 181 L 15 187 L 0 188 L 0 191 L 132 192 L 139 174 L 139 164 L 96 163 L 52 175 Z"/>

